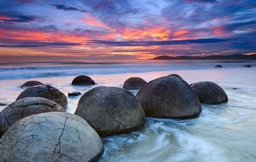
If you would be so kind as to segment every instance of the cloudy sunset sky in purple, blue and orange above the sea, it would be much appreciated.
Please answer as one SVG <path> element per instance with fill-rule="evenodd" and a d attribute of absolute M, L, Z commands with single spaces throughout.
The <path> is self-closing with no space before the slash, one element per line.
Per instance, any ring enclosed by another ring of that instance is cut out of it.
<path fill-rule="evenodd" d="M 255 0 L 0 0 L 0 60 L 253 53 Z"/>

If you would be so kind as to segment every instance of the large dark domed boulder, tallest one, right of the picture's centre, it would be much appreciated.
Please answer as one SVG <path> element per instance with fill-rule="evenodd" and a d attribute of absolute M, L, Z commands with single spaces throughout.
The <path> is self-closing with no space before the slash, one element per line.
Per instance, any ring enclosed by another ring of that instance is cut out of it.
<path fill-rule="evenodd" d="M 174 76 L 160 77 L 144 85 L 136 95 L 147 117 L 188 119 L 201 113 L 195 91 Z"/>

